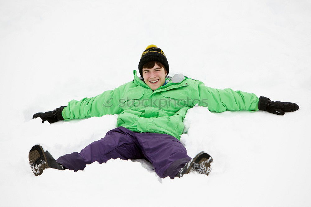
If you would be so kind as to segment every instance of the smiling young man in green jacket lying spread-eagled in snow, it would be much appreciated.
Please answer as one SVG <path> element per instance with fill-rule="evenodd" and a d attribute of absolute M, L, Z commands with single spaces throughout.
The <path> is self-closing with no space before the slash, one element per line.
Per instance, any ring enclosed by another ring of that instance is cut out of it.
<path fill-rule="evenodd" d="M 162 178 L 182 177 L 189 172 L 208 175 L 213 161 L 210 155 L 200 152 L 191 159 L 180 142 L 183 119 L 189 108 L 198 104 L 215 112 L 259 109 L 278 115 L 299 108 L 295 103 L 274 102 L 252 93 L 210 88 L 182 74 L 169 77 L 166 56 L 156 45 L 149 45 L 142 53 L 138 71 L 141 78 L 134 70 L 134 80 L 114 90 L 80 101 L 72 100 L 53 112 L 34 114 L 33 118 L 40 117 L 42 122 L 49 123 L 118 114 L 118 127 L 80 153 L 65 154 L 55 160 L 40 145 L 33 146 L 29 162 L 36 176 L 46 168 L 76 172 L 83 170 L 86 164 L 116 158 L 146 159 Z"/>

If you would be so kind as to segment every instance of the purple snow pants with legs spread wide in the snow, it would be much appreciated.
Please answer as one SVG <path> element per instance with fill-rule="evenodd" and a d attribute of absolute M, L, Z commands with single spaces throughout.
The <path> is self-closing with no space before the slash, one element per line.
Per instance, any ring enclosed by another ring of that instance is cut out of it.
<path fill-rule="evenodd" d="M 107 132 L 104 138 L 86 146 L 80 153 L 65 154 L 56 161 L 75 172 L 95 161 L 109 159 L 146 159 L 160 177 L 174 178 L 188 161 L 186 148 L 174 136 L 158 133 L 137 133 L 124 127 Z"/>

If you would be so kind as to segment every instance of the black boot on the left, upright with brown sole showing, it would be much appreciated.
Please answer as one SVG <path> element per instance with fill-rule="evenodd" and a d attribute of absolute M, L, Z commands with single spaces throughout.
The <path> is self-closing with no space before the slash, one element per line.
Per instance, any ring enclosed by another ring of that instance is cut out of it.
<path fill-rule="evenodd" d="M 42 149 L 40 145 L 35 145 L 29 151 L 29 164 L 35 176 L 41 175 L 46 168 L 64 170 L 64 167 L 57 163 L 52 155 Z"/>

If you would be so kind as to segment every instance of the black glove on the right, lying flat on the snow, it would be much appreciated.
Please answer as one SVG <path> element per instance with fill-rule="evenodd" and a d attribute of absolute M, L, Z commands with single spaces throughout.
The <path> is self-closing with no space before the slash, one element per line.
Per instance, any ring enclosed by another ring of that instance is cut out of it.
<path fill-rule="evenodd" d="M 284 115 L 285 112 L 292 112 L 298 110 L 299 106 L 295 103 L 271 101 L 269 98 L 260 96 L 258 102 L 258 109 L 274 113 L 277 115 Z"/>

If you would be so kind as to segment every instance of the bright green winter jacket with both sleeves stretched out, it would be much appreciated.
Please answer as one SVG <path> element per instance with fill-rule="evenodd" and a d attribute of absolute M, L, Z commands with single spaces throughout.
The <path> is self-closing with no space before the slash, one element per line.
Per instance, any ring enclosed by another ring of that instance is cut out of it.
<path fill-rule="evenodd" d="M 133 71 L 134 80 L 114 90 L 80 101 L 72 100 L 63 109 L 65 120 L 118 114 L 117 126 L 135 132 L 164 133 L 180 140 L 183 119 L 196 104 L 208 110 L 258 111 L 258 97 L 232 89 L 214 89 L 201 81 L 177 74 L 152 91 Z"/>

